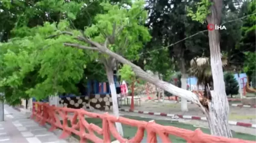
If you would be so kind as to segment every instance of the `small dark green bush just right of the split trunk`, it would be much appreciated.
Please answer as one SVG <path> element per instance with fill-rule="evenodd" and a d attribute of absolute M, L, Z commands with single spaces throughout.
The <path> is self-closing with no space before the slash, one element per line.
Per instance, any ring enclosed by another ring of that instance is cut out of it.
<path fill-rule="evenodd" d="M 235 76 L 232 73 L 225 73 L 224 81 L 226 87 L 226 94 L 230 95 L 231 98 L 233 98 L 232 95 L 236 95 L 239 93 L 239 84 L 236 81 Z"/>

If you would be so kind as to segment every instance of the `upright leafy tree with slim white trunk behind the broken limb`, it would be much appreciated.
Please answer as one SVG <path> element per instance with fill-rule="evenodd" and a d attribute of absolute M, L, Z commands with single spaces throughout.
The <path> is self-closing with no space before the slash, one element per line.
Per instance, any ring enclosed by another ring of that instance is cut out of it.
<path fill-rule="evenodd" d="M 119 5 L 111 5 L 111 3 L 101 3 L 101 6 L 106 11 L 105 14 L 97 14 L 94 18 L 95 23 L 91 26 L 85 27 L 84 31 L 71 29 L 67 21 L 61 21 L 56 25 L 55 23 L 38 27 L 43 37 L 51 37 L 44 42 L 60 43 L 64 46 L 71 46 L 81 49 L 89 49 L 86 53 L 90 55 L 91 60 L 97 60 L 104 64 L 106 69 L 108 82 L 111 88 L 111 95 L 113 99 L 113 112 L 119 116 L 117 105 L 116 88 L 113 81 L 113 70 L 117 67 L 115 58 L 108 56 L 104 51 L 94 52 L 100 48 L 107 48 L 110 51 L 115 51 L 129 59 L 138 59 L 138 51 L 143 45 L 143 42 L 148 41 L 151 36 L 141 23 L 146 20 L 147 12 L 144 10 L 144 1 L 138 0 L 131 5 L 131 8 L 123 8 Z M 49 31 L 48 28 L 55 30 Z M 57 36 L 57 37 L 56 37 Z M 45 39 L 45 38 L 44 38 Z M 87 44 L 95 47 L 88 47 L 82 44 Z M 71 48 L 61 48 L 71 49 Z M 80 51 L 80 50 L 78 50 Z M 87 58 L 88 59 L 88 58 Z M 74 60 L 72 60 L 74 61 Z M 116 123 L 118 132 L 123 135 L 122 126 Z"/>

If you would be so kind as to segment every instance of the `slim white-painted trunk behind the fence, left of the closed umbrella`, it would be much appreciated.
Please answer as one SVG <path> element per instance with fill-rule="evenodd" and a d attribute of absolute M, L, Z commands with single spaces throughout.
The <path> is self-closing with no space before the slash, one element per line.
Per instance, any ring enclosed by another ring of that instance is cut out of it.
<path fill-rule="evenodd" d="M 106 67 L 107 70 L 107 76 L 108 76 L 108 83 L 111 91 L 111 97 L 112 97 L 112 104 L 113 104 L 113 113 L 116 117 L 119 117 L 119 109 L 118 109 L 118 102 L 117 102 L 117 94 L 116 94 L 116 86 L 114 83 L 114 77 L 113 77 L 113 69 L 111 67 Z M 116 130 L 119 132 L 120 135 L 124 136 L 122 124 L 121 123 L 115 123 L 116 124 Z"/>

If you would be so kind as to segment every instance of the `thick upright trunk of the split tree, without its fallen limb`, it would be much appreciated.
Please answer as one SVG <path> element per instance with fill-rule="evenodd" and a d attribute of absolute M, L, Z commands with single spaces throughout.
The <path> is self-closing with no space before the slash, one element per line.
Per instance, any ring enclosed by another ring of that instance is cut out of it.
<path fill-rule="evenodd" d="M 208 24 L 220 25 L 222 0 L 212 0 L 211 14 L 207 17 Z M 207 115 L 212 135 L 232 137 L 228 124 L 229 104 L 225 92 L 225 83 L 221 62 L 220 34 L 218 30 L 208 31 L 210 59 L 212 68 L 213 91 Z"/>

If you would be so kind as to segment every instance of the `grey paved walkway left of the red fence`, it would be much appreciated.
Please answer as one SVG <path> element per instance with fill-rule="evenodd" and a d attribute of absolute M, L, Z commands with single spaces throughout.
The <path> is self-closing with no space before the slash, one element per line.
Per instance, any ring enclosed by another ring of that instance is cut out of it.
<path fill-rule="evenodd" d="M 8 105 L 4 112 L 5 121 L 0 122 L 0 143 L 68 143 Z"/>

